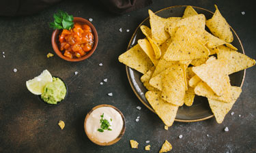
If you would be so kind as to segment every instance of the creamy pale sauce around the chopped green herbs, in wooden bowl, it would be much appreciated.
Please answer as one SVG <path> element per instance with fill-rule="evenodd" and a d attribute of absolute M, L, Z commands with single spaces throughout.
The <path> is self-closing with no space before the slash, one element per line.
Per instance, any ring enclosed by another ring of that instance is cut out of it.
<path fill-rule="evenodd" d="M 112 131 L 104 130 L 102 133 L 98 131 L 98 129 L 100 129 L 100 116 L 103 113 L 103 118 L 109 121 L 111 125 L 109 128 L 112 129 Z M 85 126 L 89 137 L 103 143 L 113 141 L 117 138 L 122 131 L 123 125 L 124 122 L 119 112 L 112 107 L 99 107 L 91 112 Z"/>

